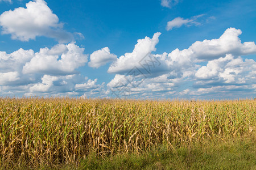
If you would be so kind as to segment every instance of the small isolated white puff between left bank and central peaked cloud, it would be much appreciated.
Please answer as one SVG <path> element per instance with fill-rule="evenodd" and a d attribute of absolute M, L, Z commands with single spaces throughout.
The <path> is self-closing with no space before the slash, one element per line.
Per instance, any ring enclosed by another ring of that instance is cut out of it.
<path fill-rule="evenodd" d="M 98 68 L 110 61 L 115 60 L 117 60 L 117 56 L 115 56 L 114 54 L 110 54 L 109 48 L 105 47 L 90 54 L 90 62 L 88 63 L 88 65 L 90 67 Z"/>

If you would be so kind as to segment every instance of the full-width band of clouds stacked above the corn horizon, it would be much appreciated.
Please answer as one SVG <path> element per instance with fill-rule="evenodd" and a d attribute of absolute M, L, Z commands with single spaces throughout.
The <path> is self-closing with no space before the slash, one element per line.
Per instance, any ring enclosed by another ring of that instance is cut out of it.
<path fill-rule="evenodd" d="M 232 91 L 236 91 L 233 97 L 253 95 L 256 63 L 242 56 L 256 54 L 256 45 L 241 42 L 238 37 L 241 33 L 240 29 L 228 28 L 218 39 L 196 41 L 188 49 L 163 54 L 152 54 L 159 42 L 159 32 L 152 38 L 138 40 L 133 52 L 119 58 L 108 47 L 102 48 L 90 54 L 88 65 L 98 68 L 112 62 L 108 72 L 115 77 L 101 84 L 77 71 L 85 67 L 88 55 L 73 42 L 42 48 L 39 52 L 24 49 L 11 54 L 0 52 L 1 95 L 214 98 L 217 94 L 230 95 Z M 141 61 L 147 55 L 151 58 L 144 61 L 150 71 L 143 71 L 147 67 Z M 134 68 L 137 74 L 129 74 Z"/>

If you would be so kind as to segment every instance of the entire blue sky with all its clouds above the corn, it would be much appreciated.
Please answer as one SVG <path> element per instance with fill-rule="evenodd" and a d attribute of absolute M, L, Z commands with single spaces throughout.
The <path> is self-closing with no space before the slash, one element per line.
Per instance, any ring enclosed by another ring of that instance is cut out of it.
<path fill-rule="evenodd" d="M 0 96 L 255 97 L 255 8 L 0 0 Z"/>

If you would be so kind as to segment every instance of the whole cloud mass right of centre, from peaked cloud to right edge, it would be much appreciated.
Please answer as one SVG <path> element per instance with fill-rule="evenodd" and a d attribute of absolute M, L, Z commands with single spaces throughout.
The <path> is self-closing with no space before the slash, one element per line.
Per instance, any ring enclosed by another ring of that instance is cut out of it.
<path fill-rule="evenodd" d="M 242 43 L 238 37 L 241 33 L 240 29 L 228 28 L 219 39 L 196 41 L 188 49 L 175 49 L 171 53 L 151 54 L 164 71 L 155 74 L 159 70 L 152 69 L 154 73 L 146 76 L 143 73 L 127 73 L 134 71 L 134 68 L 143 69 L 138 64 L 141 56 L 137 51 L 144 52 L 147 49 L 146 52 L 152 52 L 158 41 L 154 39 L 155 35 L 152 39 L 146 37 L 138 40 L 132 53 L 121 56 L 109 67 L 109 73 L 115 73 L 115 77 L 107 84 L 109 95 L 146 99 L 200 98 L 200 95 L 206 97 L 210 94 L 216 98 L 217 95 L 211 94 L 211 91 L 218 89 L 216 94 L 239 91 L 233 97 L 238 94 L 245 96 L 246 91 L 255 91 L 256 65 L 253 59 L 243 59 L 241 56 L 255 54 L 256 46 L 254 42 Z M 207 66 L 199 65 L 202 61 L 208 61 Z M 184 88 L 184 84 L 190 84 L 190 88 Z"/>

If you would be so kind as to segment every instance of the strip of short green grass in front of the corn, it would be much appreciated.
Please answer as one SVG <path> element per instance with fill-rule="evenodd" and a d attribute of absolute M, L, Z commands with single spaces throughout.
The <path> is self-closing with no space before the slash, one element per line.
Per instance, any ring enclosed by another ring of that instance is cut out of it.
<path fill-rule="evenodd" d="M 143 154 L 99 158 L 90 155 L 78 169 L 256 169 L 255 141 L 208 141 L 168 150 L 155 147 Z"/>

